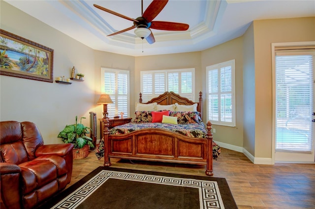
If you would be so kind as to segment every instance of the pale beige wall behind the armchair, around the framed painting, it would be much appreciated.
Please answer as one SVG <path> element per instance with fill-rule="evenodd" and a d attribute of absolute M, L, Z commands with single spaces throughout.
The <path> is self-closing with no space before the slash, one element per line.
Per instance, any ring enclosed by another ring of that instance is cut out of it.
<path fill-rule="evenodd" d="M 0 26 L 36 43 L 54 49 L 54 80 L 70 77 L 71 68 L 85 74 L 84 82 L 71 85 L 0 76 L 0 120 L 32 121 L 46 144 L 61 143 L 57 135 L 75 116 L 86 117 L 95 104 L 94 50 L 66 36 L 21 10 L 1 1 Z M 98 88 L 97 88 L 98 89 Z"/>

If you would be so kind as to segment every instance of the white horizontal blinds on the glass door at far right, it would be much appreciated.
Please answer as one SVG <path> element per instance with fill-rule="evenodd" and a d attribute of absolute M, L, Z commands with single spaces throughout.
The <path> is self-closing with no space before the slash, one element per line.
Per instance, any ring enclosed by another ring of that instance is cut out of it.
<path fill-rule="evenodd" d="M 312 151 L 313 59 L 276 51 L 276 150 Z"/>

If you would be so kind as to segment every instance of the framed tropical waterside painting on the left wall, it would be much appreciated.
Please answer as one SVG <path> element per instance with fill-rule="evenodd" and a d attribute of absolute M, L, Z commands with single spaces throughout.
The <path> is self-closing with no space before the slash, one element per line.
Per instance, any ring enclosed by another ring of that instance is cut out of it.
<path fill-rule="evenodd" d="M 53 49 L 0 29 L 0 51 L 0 75 L 53 82 Z"/>

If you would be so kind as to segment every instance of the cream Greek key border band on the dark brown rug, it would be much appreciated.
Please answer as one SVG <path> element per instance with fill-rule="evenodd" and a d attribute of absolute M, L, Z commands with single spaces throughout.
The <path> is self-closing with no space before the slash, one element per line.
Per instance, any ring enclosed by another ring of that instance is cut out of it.
<path fill-rule="evenodd" d="M 173 178 L 109 170 L 100 171 L 92 179 L 52 207 L 52 209 L 75 209 L 108 179 L 124 179 L 146 183 L 197 188 L 199 190 L 200 209 L 224 209 L 217 181 Z"/>

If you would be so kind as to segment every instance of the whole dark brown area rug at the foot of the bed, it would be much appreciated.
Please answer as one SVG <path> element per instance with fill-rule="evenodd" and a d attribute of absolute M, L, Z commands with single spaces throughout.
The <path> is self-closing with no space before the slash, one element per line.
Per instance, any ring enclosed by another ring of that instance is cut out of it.
<path fill-rule="evenodd" d="M 224 178 L 98 167 L 37 209 L 237 209 Z"/>

